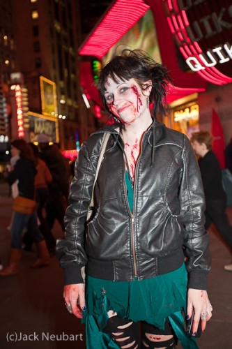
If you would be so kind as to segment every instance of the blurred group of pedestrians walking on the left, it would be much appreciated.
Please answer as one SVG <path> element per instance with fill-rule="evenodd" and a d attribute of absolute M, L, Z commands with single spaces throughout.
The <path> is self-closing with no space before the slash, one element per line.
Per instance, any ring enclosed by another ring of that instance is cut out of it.
<path fill-rule="evenodd" d="M 10 230 L 10 257 L 0 276 L 19 271 L 22 249 L 32 251 L 36 244 L 38 260 L 31 267 L 47 267 L 54 254 L 56 239 L 52 229 L 57 220 L 64 232 L 63 218 L 73 169 L 57 144 L 46 135 L 38 145 L 23 139 L 11 142 L 11 158 L 6 172 L 13 211 Z"/>

